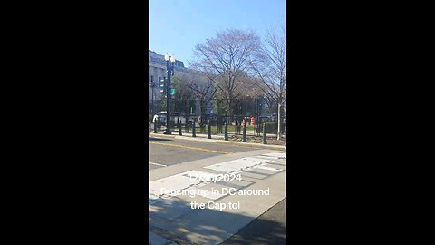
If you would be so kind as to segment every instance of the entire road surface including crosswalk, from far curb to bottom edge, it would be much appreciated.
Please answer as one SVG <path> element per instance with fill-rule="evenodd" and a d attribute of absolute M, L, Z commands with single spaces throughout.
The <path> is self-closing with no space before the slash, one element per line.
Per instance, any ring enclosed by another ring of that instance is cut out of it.
<path fill-rule="evenodd" d="M 149 244 L 285 244 L 286 152 L 242 144 L 149 139 Z M 192 174 L 239 172 L 239 182 L 191 182 Z M 268 196 L 168 196 L 160 190 L 270 190 Z M 239 202 L 231 210 L 194 209 L 192 201 Z"/>

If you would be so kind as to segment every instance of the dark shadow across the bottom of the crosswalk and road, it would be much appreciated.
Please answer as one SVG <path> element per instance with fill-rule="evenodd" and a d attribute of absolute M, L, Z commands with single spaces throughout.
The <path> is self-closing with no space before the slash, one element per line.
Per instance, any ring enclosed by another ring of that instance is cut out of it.
<path fill-rule="evenodd" d="M 279 222 L 270 217 L 253 220 L 243 215 L 243 206 L 237 214 L 208 209 L 192 210 L 188 202 L 179 199 L 177 201 L 159 199 L 150 203 L 150 206 L 153 210 L 149 210 L 150 230 L 160 232 L 160 236 L 180 245 L 286 244 L 285 221 Z M 278 211 L 275 216 L 285 217 L 283 212 Z M 250 223 L 253 225 L 247 226 Z M 238 228 L 235 230 L 231 227 Z M 236 233 L 237 236 L 233 236 Z M 228 240 L 229 238 L 231 239 Z M 227 242 L 224 242 L 225 240 Z"/>

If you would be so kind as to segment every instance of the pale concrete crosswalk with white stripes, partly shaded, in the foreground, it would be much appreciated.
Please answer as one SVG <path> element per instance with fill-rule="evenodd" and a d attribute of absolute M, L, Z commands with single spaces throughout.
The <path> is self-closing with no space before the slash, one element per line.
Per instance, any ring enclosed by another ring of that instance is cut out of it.
<path fill-rule="evenodd" d="M 214 182 L 195 178 L 196 181 L 192 181 L 192 177 L 229 173 L 240 173 L 241 181 Z M 171 244 L 219 244 L 286 197 L 285 152 L 258 150 L 219 155 L 152 170 L 149 175 L 149 232 L 153 235 L 150 244 L 168 244 L 169 241 L 173 242 Z M 230 188 L 232 194 L 213 192 Z M 169 192 L 162 194 L 162 190 Z M 266 193 L 266 190 L 269 190 L 267 195 L 253 194 Z M 172 191 L 196 191 L 197 194 L 168 194 Z M 193 202 L 210 201 L 226 208 L 191 207 Z M 228 208 L 228 203 L 238 203 L 239 208 Z M 269 222 L 271 227 L 286 229 L 278 227 L 282 224 Z"/>

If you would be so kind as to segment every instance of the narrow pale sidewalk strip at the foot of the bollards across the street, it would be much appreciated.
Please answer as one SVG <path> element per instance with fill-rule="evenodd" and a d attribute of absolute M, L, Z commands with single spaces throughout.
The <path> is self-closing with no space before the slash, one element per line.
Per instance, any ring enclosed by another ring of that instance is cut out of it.
<path fill-rule="evenodd" d="M 254 148 L 261 149 L 271 149 L 276 151 L 286 151 L 287 147 L 284 145 L 273 145 L 273 144 L 261 144 L 261 143 L 252 143 L 252 142 L 235 142 L 235 141 L 224 141 L 223 135 L 211 135 L 211 139 L 208 139 L 207 134 L 197 133 L 197 137 L 192 137 L 192 134 L 185 134 L 183 136 L 179 136 L 178 132 L 172 132 L 172 135 L 163 134 L 163 132 L 153 133 L 150 132 L 149 137 L 157 137 L 157 138 L 168 138 L 168 139 L 180 139 L 180 140 L 188 140 L 188 141 L 196 141 L 196 142 L 218 142 L 218 143 L 226 143 L 226 144 L 236 144 L 236 145 L 244 145 Z"/>

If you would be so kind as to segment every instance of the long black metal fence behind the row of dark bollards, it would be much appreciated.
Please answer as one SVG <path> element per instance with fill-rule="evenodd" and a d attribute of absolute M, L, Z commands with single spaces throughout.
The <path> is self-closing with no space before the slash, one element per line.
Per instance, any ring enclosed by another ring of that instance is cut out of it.
<path fill-rule="evenodd" d="M 212 134 L 222 134 L 225 123 L 228 133 L 241 134 L 242 125 L 247 124 L 247 135 L 260 136 L 263 124 L 267 133 L 277 132 L 277 105 L 265 99 L 247 100 L 171 100 L 170 127 L 177 132 L 181 126 L 183 132 L 191 132 L 195 126 L 198 133 L 206 133 L 208 124 Z M 166 128 L 166 100 L 149 103 L 149 122 L 156 122 L 158 129 Z M 282 108 L 281 131 L 286 132 L 286 110 Z M 179 125 L 180 124 L 180 125 Z"/>

